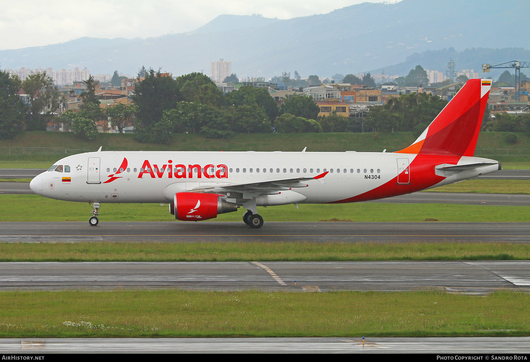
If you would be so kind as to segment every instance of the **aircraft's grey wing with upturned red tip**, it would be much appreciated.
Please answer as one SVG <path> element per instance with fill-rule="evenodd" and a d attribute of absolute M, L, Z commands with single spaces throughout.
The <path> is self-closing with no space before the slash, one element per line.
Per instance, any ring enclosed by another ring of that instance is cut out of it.
<path fill-rule="evenodd" d="M 317 180 L 328 174 L 326 171 L 323 174 L 314 177 L 296 177 L 296 178 L 283 178 L 277 180 L 266 180 L 253 183 L 245 184 L 227 184 L 219 186 L 200 186 L 193 188 L 191 192 L 205 192 L 205 193 L 223 193 L 223 192 L 252 192 L 260 194 L 273 194 L 279 191 L 289 190 L 297 187 L 309 186 L 306 182 L 309 180 Z"/>

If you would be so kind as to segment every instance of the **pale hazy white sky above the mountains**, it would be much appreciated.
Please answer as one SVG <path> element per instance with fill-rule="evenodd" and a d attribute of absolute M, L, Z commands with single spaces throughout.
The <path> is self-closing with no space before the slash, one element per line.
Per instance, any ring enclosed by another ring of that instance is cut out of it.
<path fill-rule="evenodd" d="M 221 14 L 290 19 L 381 0 L 0 0 L 0 50 L 80 37 L 148 38 L 192 31 Z M 391 2 L 395 2 L 392 0 Z"/>

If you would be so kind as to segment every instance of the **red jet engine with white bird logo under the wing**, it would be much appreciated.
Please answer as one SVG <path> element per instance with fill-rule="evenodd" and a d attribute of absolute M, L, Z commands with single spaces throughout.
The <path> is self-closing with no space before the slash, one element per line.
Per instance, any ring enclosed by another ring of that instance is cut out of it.
<path fill-rule="evenodd" d="M 170 204 L 170 213 L 182 221 L 208 220 L 232 211 L 237 211 L 237 204 L 223 200 L 218 194 L 178 192 Z"/>

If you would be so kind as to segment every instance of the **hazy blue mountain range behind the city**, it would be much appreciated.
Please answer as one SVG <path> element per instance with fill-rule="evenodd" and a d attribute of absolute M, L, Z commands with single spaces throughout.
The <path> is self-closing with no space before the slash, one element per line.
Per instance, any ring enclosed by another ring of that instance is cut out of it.
<path fill-rule="evenodd" d="M 325 2 L 323 2 L 323 6 Z M 331 76 L 371 71 L 406 75 L 416 64 L 480 71 L 482 63 L 530 61 L 528 1 L 402 0 L 362 3 L 288 20 L 220 15 L 195 31 L 147 39 L 83 37 L 61 44 L 0 51 L 2 68 L 87 67 L 135 75 L 143 65 L 175 75 L 209 74 L 232 61 L 238 76 Z M 508 49 L 511 48 L 511 49 Z M 493 75 L 494 73 L 492 73 Z"/>

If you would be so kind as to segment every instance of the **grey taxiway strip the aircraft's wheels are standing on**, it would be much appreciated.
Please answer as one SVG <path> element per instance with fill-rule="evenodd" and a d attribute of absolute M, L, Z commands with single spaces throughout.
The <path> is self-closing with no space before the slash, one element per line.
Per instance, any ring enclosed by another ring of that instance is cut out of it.
<path fill-rule="evenodd" d="M 0 222 L 0 242 L 521 242 L 526 222 Z"/>

